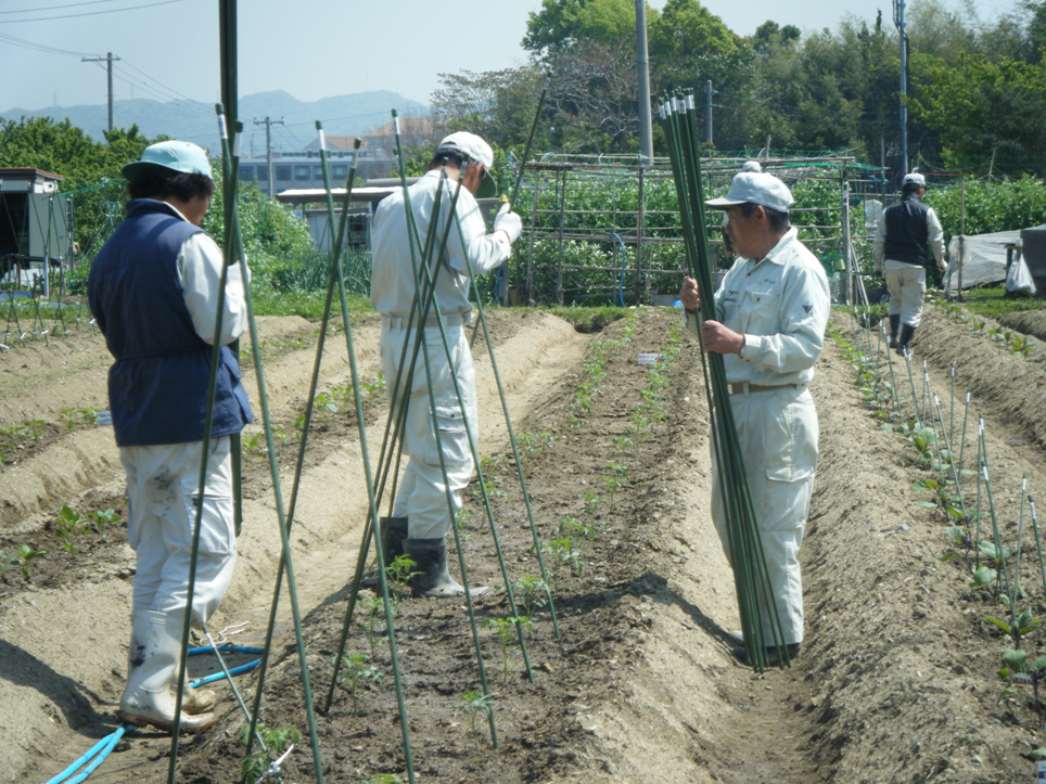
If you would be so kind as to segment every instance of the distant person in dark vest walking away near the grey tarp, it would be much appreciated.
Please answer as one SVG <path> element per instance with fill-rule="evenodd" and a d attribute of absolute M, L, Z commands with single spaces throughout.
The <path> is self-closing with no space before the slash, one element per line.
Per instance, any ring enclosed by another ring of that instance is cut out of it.
<path fill-rule="evenodd" d="M 884 274 L 890 292 L 890 347 L 904 354 L 922 319 L 930 252 L 944 272 L 944 230 L 933 207 L 922 203 L 926 178 L 913 172 L 901 182 L 901 203 L 886 207 L 872 244 L 876 274 Z M 900 329 L 900 336 L 898 336 Z"/>

